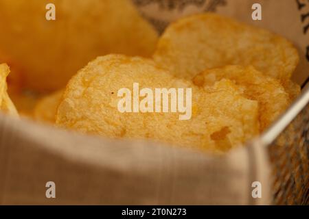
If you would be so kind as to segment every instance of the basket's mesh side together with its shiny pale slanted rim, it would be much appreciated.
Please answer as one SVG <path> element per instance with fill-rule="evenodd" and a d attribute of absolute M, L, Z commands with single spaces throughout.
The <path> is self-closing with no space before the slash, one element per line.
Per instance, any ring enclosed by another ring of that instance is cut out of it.
<path fill-rule="evenodd" d="M 308 205 L 309 88 L 262 140 L 272 165 L 273 204 Z"/>

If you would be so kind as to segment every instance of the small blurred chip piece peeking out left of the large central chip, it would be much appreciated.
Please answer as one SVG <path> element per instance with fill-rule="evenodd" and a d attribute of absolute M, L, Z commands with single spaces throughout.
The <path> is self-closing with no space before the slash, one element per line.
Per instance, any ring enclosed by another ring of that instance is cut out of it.
<path fill-rule="evenodd" d="M 64 90 L 58 90 L 52 94 L 44 96 L 43 99 L 38 101 L 34 107 L 34 119 L 54 124 L 57 107 L 60 103 L 63 91 Z"/>

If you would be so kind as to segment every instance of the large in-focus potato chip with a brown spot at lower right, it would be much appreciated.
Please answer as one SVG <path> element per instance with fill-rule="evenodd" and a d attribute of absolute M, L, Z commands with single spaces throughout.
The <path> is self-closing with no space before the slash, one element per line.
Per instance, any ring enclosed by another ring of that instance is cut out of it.
<path fill-rule="evenodd" d="M 192 117 L 179 120 L 179 112 L 119 112 L 117 104 L 122 97 L 117 96 L 118 90 L 133 90 L 133 83 L 139 83 L 140 89 L 192 88 Z M 176 79 L 152 60 L 106 55 L 90 62 L 69 81 L 56 125 L 111 138 L 226 151 L 258 134 L 258 102 L 242 96 L 227 79 L 203 89 Z"/>

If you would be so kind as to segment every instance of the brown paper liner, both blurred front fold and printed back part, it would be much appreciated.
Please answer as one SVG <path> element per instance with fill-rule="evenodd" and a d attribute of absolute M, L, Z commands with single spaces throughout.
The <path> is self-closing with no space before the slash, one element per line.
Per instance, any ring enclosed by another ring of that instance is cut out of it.
<path fill-rule="evenodd" d="M 134 1 L 159 31 L 180 16 L 216 11 L 270 29 L 295 43 L 301 64 L 294 75 L 308 77 L 309 3 L 268 1 Z M 301 2 L 301 0 L 300 0 Z M 251 5 L 262 4 L 262 21 Z M 179 6 L 181 5 L 181 7 Z M 180 8 L 179 8 L 180 7 Z M 267 205 L 271 164 L 259 139 L 214 157 L 179 146 L 82 136 L 0 115 L 0 204 Z M 47 198 L 47 181 L 56 198 Z M 262 185 L 253 198 L 252 183 Z"/>

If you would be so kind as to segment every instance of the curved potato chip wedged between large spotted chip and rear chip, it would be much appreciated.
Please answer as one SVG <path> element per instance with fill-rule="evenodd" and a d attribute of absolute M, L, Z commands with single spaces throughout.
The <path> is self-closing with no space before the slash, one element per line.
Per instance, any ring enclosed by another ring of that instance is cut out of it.
<path fill-rule="evenodd" d="M 224 78 L 234 81 L 248 99 L 258 101 L 261 131 L 271 125 L 290 103 L 290 98 L 281 83 L 255 70 L 253 66 L 208 69 L 196 75 L 193 81 L 198 86 L 208 87 Z"/>

